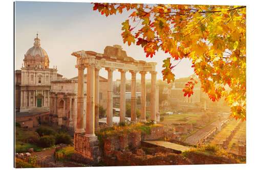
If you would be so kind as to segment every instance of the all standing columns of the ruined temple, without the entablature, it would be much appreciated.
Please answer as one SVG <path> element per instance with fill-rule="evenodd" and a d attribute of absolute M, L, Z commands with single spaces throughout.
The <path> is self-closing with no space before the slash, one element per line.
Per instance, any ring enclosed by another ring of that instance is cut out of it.
<path fill-rule="evenodd" d="M 86 66 L 76 65 L 78 68 L 78 93 L 77 93 L 77 128 L 76 133 L 84 132 L 83 125 L 83 74 Z M 100 67 L 87 67 L 87 110 L 86 110 L 86 136 L 95 136 L 94 128 L 98 128 L 99 117 L 99 69 Z M 105 68 L 108 71 L 108 99 L 106 110 L 106 124 L 113 126 L 113 71 L 114 68 Z M 125 121 L 125 74 L 126 69 L 119 69 L 121 72 L 120 84 L 120 122 Z M 130 70 L 132 74 L 132 103 L 131 122 L 136 122 L 136 71 Z M 146 71 L 141 74 L 141 122 L 146 122 Z M 151 71 L 151 119 L 156 122 L 156 71 Z"/>

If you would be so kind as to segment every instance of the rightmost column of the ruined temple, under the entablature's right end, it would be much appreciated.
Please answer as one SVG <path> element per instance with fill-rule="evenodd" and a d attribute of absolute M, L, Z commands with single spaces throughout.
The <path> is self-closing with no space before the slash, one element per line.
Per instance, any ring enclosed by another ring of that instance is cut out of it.
<path fill-rule="evenodd" d="M 151 120 L 153 120 L 155 123 L 157 120 L 156 82 L 157 71 L 151 71 Z"/>

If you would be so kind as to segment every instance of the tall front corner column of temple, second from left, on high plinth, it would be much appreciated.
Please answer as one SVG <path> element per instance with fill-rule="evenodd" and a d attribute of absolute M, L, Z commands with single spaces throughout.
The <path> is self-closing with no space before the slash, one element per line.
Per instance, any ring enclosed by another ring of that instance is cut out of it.
<path fill-rule="evenodd" d="M 94 134 L 94 85 L 95 67 L 87 67 L 87 108 L 86 108 L 86 137 L 93 137 Z"/>

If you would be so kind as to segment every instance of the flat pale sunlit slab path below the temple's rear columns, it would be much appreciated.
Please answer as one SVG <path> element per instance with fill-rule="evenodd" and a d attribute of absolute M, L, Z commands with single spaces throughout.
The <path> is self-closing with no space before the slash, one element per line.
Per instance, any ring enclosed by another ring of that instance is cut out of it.
<path fill-rule="evenodd" d="M 162 140 L 143 140 L 143 142 L 159 145 L 161 147 L 173 149 L 176 151 L 182 151 L 182 152 L 188 151 L 190 149 L 190 147 L 185 147 L 181 144 L 171 143 L 171 142 L 162 141 Z"/>

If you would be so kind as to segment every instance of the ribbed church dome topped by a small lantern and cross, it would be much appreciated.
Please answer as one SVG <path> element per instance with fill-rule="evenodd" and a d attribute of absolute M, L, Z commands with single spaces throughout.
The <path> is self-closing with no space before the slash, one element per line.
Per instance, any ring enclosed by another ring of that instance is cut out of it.
<path fill-rule="evenodd" d="M 24 58 L 24 65 L 27 68 L 49 68 L 49 58 L 44 49 L 40 46 L 38 34 L 34 39 L 34 46 L 29 48 Z"/>

